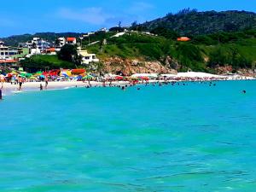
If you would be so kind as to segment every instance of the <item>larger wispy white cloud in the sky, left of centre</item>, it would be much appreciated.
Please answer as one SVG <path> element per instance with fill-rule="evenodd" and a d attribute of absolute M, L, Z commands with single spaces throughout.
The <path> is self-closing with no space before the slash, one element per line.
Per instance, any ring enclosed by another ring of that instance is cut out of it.
<path fill-rule="evenodd" d="M 79 20 L 93 25 L 105 24 L 108 20 L 113 18 L 113 15 L 105 13 L 102 8 L 85 8 L 75 10 L 62 8 L 58 11 L 58 15 L 67 20 Z"/>

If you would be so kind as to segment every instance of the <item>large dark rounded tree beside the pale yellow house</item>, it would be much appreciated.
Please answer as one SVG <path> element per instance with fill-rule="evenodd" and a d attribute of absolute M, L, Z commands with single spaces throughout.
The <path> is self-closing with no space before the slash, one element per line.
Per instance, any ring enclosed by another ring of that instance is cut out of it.
<path fill-rule="evenodd" d="M 63 61 L 73 62 L 75 64 L 81 63 L 81 56 L 78 55 L 77 47 L 73 44 L 65 44 L 58 53 L 58 58 Z"/>

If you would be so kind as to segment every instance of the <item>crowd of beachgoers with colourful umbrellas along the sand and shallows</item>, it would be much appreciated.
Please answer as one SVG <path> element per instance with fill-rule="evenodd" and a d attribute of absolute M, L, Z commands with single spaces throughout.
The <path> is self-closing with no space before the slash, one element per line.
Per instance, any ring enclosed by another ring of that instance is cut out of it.
<path fill-rule="evenodd" d="M 150 76 L 150 74 L 148 74 Z M 188 74 L 185 74 L 188 75 Z M 81 77 L 85 78 L 81 78 Z M 84 87 L 90 88 L 93 85 L 91 82 L 93 82 L 94 86 L 102 86 L 102 87 L 119 87 L 121 90 L 126 90 L 126 88 L 130 86 L 135 86 L 138 84 L 145 84 L 145 86 L 148 86 L 149 84 L 152 84 L 153 86 L 163 86 L 166 84 L 172 84 L 172 85 L 186 85 L 184 82 L 209 82 L 209 86 L 216 86 L 216 81 L 221 81 L 221 80 L 238 80 L 238 79 L 247 79 L 246 77 L 229 77 L 229 76 L 217 76 L 217 75 L 212 75 L 209 74 L 209 76 L 178 76 L 178 75 L 172 75 L 170 77 L 164 76 L 164 75 L 159 75 L 154 78 L 149 78 L 148 76 L 139 76 L 137 78 L 134 78 L 132 76 L 130 77 L 122 77 L 122 76 L 117 76 L 114 75 L 113 77 L 106 77 L 106 76 L 101 76 L 101 77 L 96 77 L 94 75 L 86 74 L 84 75 L 78 75 L 75 76 L 76 78 L 71 78 L 69 76 L 60 77 L 57 75 L 49 75 L 49 73 L 40 73 L 36 78 L 28 78 L 24 74 L 7 74 L 3 75 L 0 74 L 0 82 L 1 82 L 1 87 L 0 87 L 0 99 L 3 98 L 3 87 L 5 83 L 7 84 L 17 84 L 17 89 L 16 91 L 21 91 L 23 89 L 23 84 L 29 83 L 29 82 L 38 82 L 40 83 L 38 89 L 39 90 L 47 90 L 48 89 L 48 84 L 50 82 L 83 82 Z M 31 76 L 30 76 L 31 77 Z M 61 84 L 61 83 L 60 83 Z M 80 84 L 81 85 L 81 84 Z M 78 85 L 75 85 L 78 87 Z M 137 90 L 140 90 L 140 87 L 137 87 Z M 35 90 L 35 88 L 33 88 Z M 243 93 L 246 93 L 246 90 L 242 91 Z"/>

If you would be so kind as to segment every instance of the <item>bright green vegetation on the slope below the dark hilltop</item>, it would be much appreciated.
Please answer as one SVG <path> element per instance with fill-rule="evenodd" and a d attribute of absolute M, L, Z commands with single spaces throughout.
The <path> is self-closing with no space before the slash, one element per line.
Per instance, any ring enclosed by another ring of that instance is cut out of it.
<path fill-rule="evenodd" d="M 161 61 L 178 71 L 213 72 L 215 67 L 230 65 L 251 68 L 256 61 L 256 30 L 244 32 L 220 32 L 195 36 L 190 42 L 177 42 L 172 36 L 149 36 L 131 32 L 119 38 L 107 38 L 102 42 L 86 46 L 102 60 L 109 57 L 124 59 L 140 58 L 144 61 Z M 163 29 L 165 31 L 165 29 Z"/>

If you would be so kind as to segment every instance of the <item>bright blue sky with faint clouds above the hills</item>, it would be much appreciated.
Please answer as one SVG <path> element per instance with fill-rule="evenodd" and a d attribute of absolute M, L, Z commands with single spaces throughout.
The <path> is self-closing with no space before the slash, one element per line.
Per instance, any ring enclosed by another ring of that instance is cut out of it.
<path fill-rule="evenodd" d="M 0 37 L 35 32 L 91 32 L 142 23 L 190 8 L 256 12 L 255 0 L 4 0 Z"/>

